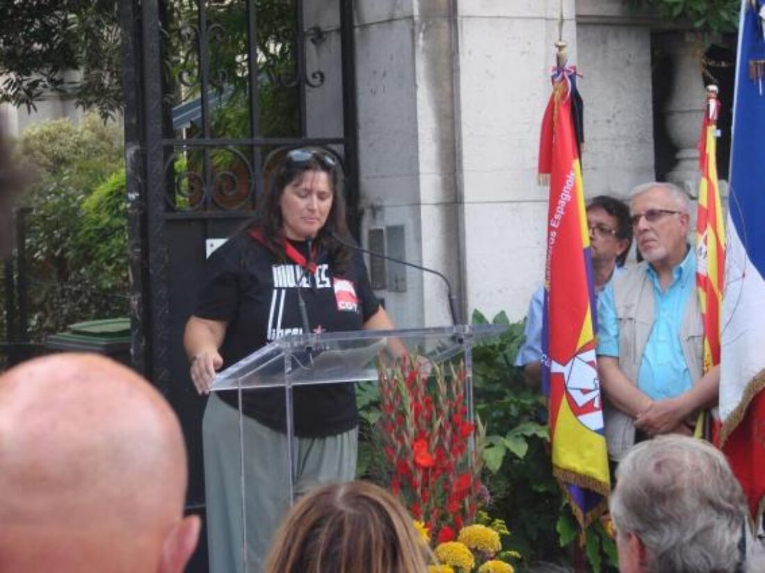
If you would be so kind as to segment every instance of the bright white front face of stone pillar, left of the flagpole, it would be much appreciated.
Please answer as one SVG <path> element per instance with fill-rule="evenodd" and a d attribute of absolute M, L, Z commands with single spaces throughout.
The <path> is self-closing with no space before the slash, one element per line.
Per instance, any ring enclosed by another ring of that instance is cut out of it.
<path fill-rule="evenodd" d="M 549 192 L 536 183 L 539 129 L 558 39 L 558 0 L 458 3 L 461 222 L 467 306 L 526 315 L 542 284 Z M 573 0 L 563 37 L 577 62 Z"/>

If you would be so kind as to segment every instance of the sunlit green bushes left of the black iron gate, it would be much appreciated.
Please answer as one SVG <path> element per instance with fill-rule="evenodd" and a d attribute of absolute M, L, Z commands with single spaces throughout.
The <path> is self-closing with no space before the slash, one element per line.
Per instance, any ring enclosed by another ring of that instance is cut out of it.
<path fill-rule="evenodd" d="M 128 312 L 122 131 L 95 115 L 29 128 L 21 160 L 37 171 L 24 196 L 31 338 Z"/>

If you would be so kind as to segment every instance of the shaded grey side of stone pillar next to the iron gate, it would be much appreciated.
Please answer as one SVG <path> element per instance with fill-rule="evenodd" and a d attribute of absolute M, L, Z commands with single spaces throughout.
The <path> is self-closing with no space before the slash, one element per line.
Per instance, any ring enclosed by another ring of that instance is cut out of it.
<path fill-rule="evenodd" d="M 356 2 L 356 73 L 363 240 L 381 231 L 395 254 L 440 270 L 458 290 L 450 5 Z M 394 322 L 450 323 L 441 280 L 404 272 L 377 291 Z"/>

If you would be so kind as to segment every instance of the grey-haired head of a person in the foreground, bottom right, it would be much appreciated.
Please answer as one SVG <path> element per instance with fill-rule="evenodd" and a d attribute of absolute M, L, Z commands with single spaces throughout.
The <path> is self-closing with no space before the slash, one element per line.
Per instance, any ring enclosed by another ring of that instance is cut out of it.
<path fill-rule="evenodd" d="M 747 503 L 724 455 L 678 435 L 641 442 L 611 494 L 621 573 L 734 573 Z"/>

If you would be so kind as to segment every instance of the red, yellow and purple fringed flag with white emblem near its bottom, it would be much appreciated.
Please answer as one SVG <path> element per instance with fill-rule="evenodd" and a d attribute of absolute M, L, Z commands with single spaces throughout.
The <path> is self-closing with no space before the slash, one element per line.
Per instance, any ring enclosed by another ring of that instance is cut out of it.
<path fill-rule="evenodd" d="M 582 527 L 604 511 L 610 490 L 594 339 L 594 287 L 572 103 L 576 70 L 558 67 L 542 122 L 539 173 L 550 204 L 542 326 L 542 380 L 552 465 Z"/>

